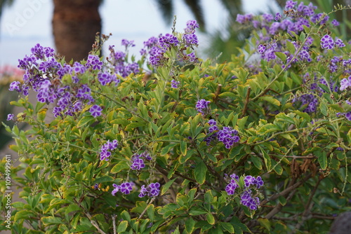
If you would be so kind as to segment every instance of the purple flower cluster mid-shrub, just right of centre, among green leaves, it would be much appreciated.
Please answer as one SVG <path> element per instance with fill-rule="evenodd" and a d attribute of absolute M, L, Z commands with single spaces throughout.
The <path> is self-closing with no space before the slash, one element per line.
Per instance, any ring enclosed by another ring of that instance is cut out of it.
<path fill-rule="evenodd" d="M 218 140 L 223 142 L 226 149 L 232 148 L 234 143 L 239 142 L 240 137 L 238 136 L 238 131 L 230 127 L 223 127 L 221 130 L 218 130 L 217 123 L 214 120 L 208 121 L 210 128 L 208 132 L 211 134 L 204 139 L 204 142 L 209 146 L 213 140 Z"/>

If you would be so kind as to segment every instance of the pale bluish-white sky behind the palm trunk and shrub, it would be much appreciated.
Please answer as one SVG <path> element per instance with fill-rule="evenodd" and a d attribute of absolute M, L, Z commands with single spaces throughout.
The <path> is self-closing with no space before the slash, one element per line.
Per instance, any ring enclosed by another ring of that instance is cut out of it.
<path fill-rule="evenodd" d="M 187 20 L 194 17 L 184 1 L 173 0 L 177 15 L 176 29 L 181 32 Z M 268 11 L 270 0 L 244 0 L 244 11 L 256 13 Z M 214 32 L 225 26 L 227 15 L 218 0 L 201 1 L 206 30 Z M 30 53 L 30 48 L 40 43 L 42 46 L 55 48 L 51 30 L 53 13 L 52 0 L 15 0 L 14 4 L 4 9 L 0 21 L 0 66 L 17 66 L 18 59 Z M 105 0 L 100 6 L 102 33 L 112 33 L 108 45 L 121 48 L 121 39 L 134 40 L 132 54 L 138 54 L 143 41 L 151 36 L 171 32 L 171 25 L 166 25 L 154 0 Z M 206 42 L 206 35 L 199 35 L 201 45 Z M 120 47 L 119 47 L 120 46 Z"/>

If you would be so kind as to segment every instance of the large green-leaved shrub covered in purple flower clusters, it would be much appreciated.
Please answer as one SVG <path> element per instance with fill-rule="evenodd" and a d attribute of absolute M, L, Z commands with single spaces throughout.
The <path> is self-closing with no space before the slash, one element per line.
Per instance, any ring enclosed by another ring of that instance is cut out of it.
<path fill-rule="evenodd" d="M 253 36 L 225 64 L 196 56 L 194 20 L 145 41 L 138 62 L 133 41 L 69 64 L 35 46 L 10 85 L 38 99 L 12 102 L 31 129 L 7 128 L 25 170 L 13 230 L 329 230 L 351 192 L 350 45 L 316 10 L 238 15 Z"/>

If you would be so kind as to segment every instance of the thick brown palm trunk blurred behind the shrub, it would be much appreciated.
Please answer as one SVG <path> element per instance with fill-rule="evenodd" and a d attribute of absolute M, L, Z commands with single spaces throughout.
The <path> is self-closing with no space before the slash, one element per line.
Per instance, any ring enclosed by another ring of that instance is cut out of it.
<path fill-rule="evenodd" d="M 59 55 L 79 61 L 88 57 L 101 32 L 100 0 L 53 0 L 53 36 Z"/>

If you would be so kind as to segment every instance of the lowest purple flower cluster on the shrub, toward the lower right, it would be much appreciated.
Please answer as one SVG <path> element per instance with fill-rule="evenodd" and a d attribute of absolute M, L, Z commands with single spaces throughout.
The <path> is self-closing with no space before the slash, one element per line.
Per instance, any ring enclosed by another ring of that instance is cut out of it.
<path fill-rule="evenodd" d="M 230 183 L 225 187 L 225 191 L 228 195 L 234 195 L 235 189 L 239 188 L 239 176 L 237 174 L 231 174 L 229 180 Z M 256 210 L 258 205 L 260 205 L 260 199 L 257 196 L 253 197 L 251 188 L 258 189 L 263 186 L 263 184 L 263 180 L 259 176 L 256 178 L 251 175 L 244 177 L 244 191 L 240 195 L 241 204 L 249 207 L 249 209 Z"/>

